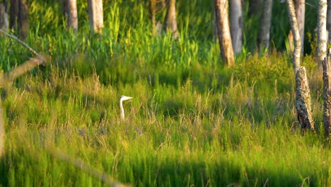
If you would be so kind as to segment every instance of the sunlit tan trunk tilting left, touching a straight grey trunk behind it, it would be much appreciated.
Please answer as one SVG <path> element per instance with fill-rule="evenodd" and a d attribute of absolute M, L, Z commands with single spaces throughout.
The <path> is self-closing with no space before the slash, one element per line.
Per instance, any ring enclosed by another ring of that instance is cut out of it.
<path fill-rule="evenodd" d="M 228 26 L 228 1 L 214 0 L 214 8 L 221 57 L 223 63 L 231 67 L 234 64 L 234 58 L 230 28 Z"/>

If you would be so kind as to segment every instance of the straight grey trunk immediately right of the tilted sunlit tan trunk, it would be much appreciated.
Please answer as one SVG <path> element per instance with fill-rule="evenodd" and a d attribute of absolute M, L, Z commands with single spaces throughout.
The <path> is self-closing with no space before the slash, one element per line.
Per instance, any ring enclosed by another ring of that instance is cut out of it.
<path fill-rule="evenodd" d="M 231 38 L 236 54 L 243 48 L 243 0 L 231 0 Z"/>

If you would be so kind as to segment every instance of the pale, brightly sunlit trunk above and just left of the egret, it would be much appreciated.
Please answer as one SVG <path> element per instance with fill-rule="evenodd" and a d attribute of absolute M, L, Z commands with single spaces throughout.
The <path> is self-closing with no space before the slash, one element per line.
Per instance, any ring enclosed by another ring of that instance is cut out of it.
<path fill-rule="evenodd" d="M 103 1 L 88 0 L 88 17 L 95 33 L 103 33 Z"/>

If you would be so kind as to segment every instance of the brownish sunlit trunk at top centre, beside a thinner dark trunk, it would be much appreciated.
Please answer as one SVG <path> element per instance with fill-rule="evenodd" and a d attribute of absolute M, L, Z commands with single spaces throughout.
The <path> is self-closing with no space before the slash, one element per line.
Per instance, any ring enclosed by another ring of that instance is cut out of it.
<path fill-rule="evenodd" d="M 168 2 L 168 10 L 165 16 L 164 22 L 165 30 L 171 30 L 173 33 L 173 39 L 178 38 L 178 30 L 177 30 L 177 21 L 176 21 L 176 0 L 169 0 Z"/>

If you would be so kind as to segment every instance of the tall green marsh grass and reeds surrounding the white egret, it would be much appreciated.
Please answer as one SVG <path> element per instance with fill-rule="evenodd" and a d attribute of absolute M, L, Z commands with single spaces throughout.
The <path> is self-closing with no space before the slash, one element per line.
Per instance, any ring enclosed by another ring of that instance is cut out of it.
<path fill-rule="evenodd" d="M 290 57 L 277 52 L 286 51 L 284 4 L 274 1 L 277 50 L 263 57 L 255 55 L 258 16 L 248 17 L 245 4 L 245 47 L 229 69 L 221 65 L 212 34 L 210 1 L 178 1 L 177 41 L 169 33 L 152 36 L 146 1 L 105 1 L 103 35 L 90 33 L 86 1 L 78 3 L 75 34 L 66 31 L 57 1 L 30 1 L 26 42 L 50 63 L 2 90 L 6 153 L 0 186 L 104 185 L 45 147 L 58 147 L 132 186 L 330 186 L 315 60 L 307 55 L 303 65 L 318 133 L 303 135 Z M 313 8 L 307 6 L 307 32 L 315 28 Z M 158 12 L 159 21 L 164 14 Z M 0 38 L 5 72 L 30 56 Z M 121 95 L 134 97 L 124 102 L 125 121 Z"/>

